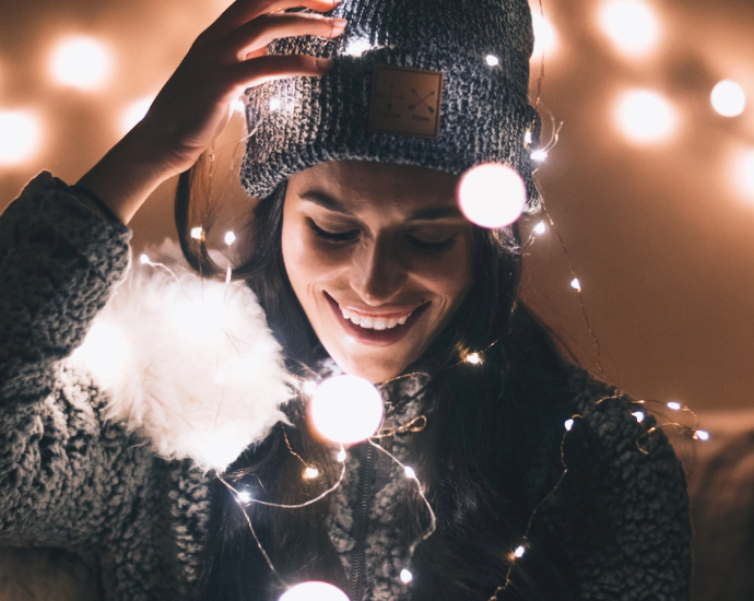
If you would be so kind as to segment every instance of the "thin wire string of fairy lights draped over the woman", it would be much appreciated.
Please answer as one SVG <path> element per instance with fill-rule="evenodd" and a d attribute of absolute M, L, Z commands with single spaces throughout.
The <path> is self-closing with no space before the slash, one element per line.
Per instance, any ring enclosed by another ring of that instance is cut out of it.
<path fill-rule="evenodd" d="M 541 8 L 540 8 L 541 10 Z M 365 39 L 352 40 L 346 52 L 351 56 L 361 56 L 362 54 L 372 49 L 369 43 Z M 490 67 L 495 68 L 499 64 L 499 59 L 494 55 L 486 55 L 483 57 L 483 61 Z M 533 142 L 531 131 L 526 133 L 525 144 L 531 153 L 532 162 L 535 164 L 543 163 L 549 153 L 557 144 L 562 122 L 558 122 L 555 117 L 546 111 L 541 103 L 541 86 L 542 79 L 544 76 L 544 56 L 542 55 L 542 72 L 538 80 L 538 97 L 537 106 L 540 111 L 545 111 L 549 115 L 550 122 L 550 139 L 538 148 L 531 148 Z M 281 98 L 272 98 L 270 101 L 270 111 L 285 110 L 286 102 Z M 290 108 L 290 106 L 287 107 Z M 243 106 L 236 106 L 236 109 L 243 110 Z M 262 119 L 266 117 L 262 117 Z M 257 132 L 259 126 L 263 122 L 258 120 L 256 127 L 250 129 L 243 139 L 243 141 L 248 140 L 254 137 Z M 214 158 L 214 152 L 212 152 Z M 212 161 L 211 168 L 214 166 L 214 160 Z M 526 204 L 526 187 L 520 178 L 520 176 L 510 167 L 502 164 L 485 164 L 472 167 L 463 174 L 460 178 L 459 186 L 457 189 L 457 199 L 460 209 L 464 215 L 476 225 L 482 227 L 504 227 L 510 223 L 517 221 Z M 532 228 L 532 236 L 540 236 L 551 229 L 556 233 L 561 247 L 564 255 L 568 261 L 568 269 L 570 270 L 570 286 L 576 291 L 579 304 L 581 307 L 582 316 L 589 332 L 592 335 L 594 345 L 597 347 L 597 364 L 602 373 L 602 364 L 600 361 L 601 349 L 598 338 L 589 323 L 588 314 L 582 298 L 582 287 L 581 283 L 575 272 L 568 249 L 565 245 L 565 240 L 561 236 L 559 232 L 555 227 L 555 224 L 546 211 L 544 202 L 542 202 L 542 212 L 544 219 L 540 221 Z M 207 245 L 207 232 L 202 226 L 196 226 L 190 231 L 190 237 L 197 244 Z M 228 231 L 224 235 L 224 243 L 229 248 L 236 241 L 236 235 L 233 231 Z M 530 238 L 529 244 L 533 240 Z M 164 267 L 162 263 L 152 263 L 149 257 L 142 256 L 142 263 L 152 264 L 154 267 Z M 232 267 L 227 267 L 226 282 L 232 281 Z M 488 349 L 484 350 L 469 350 L 459 356 L 459 363 L 467 363 L 469 365 L 480 366 L 484 363 L 484 355 Z M 412 374 L 400 376 L 397 379 L 411 377 Z M 393 380 L 394 381 L 394 380 Z M 350 375 L 337 375 L 325 379 L 323 381 L 317 382 L 315 380 L 304 380 L 301 384 L 301 390 L 304 399 L 307 399 L 309 406 L 310 421 L 315 429 L 327 440 L 329 440 L 337 452 L 333 453 L 333 461 L 340 466 L 339 478 L 337 482 L 328 490 L 320 493 L 318 496 L 298 505 L 284 505 L 275 504 L 269 502 L 262 502 L 260 499 L 254 498 L 252 494 L 248 490 L 237 490 L 236 487 L 227 481 L 222 474 L 217 478 L 221 480 L 223 485 L 231 492 L 234 496 L 239 509 L 243 511 L 246 522 L 249 528 L 259 551 L 261 552 L 264 561 L 267 562 L 272 574 L 279 579 L 280 584 L 285 588 L 285 592 L 281 596 L 280 601 L 298 601 L 298 600 L 315 600 L 315 601 L 347 601 L 347 596 L 338 589 L 337 587 L 320 581 L 307 581 L 291 584 L 287 582 L 283 576 L 275 569 L 270 556 L 263 549 L 257 533 L 254 529 L 252 521 L 249 517 L 247 508 L 254 504 L 267 505 L 270 507 L 275 507 L 280 509 L 294 510 L 298 509 L 322 500 L 328 495 L 334 493 L 343 483 L 346 476 L 346 466 L 345 461 L 347 458 L 346 447 L 360 443 L 366 443 L 376 448 L 379 452 L 387 455 L 392 462 L 399 466 L 404 478 L 412 481 L 416 490 L 423 499 L 426 509 L 431 516 L 431 523 L 425 532 L 421 534 L 410 546 L 407 553 L 405 565 L 401 568 L 399 574 L 399 579 L 403 586 L 410 586 L 413 581 L 413 574 L 411 571 L 411 559 L 419 544 L 427 540 L 436 531 L 437 520 L 435 512 L 429 504 L 427 497 L 425 496 L 425 486 L 422 484 L 419 474 L 415 470 L 408 464 L 401 462 L 394 455 L 390 453 L 388 450 L 379 445 L 379 439 L 384 435 L 384 402 L 377 387 L 364 380 L 362 378 L 350 376 Z M 385 386 L 388 382 L 384 382 Z M 600 399 L 594 403 L 594 405 L 600 405 L 605 402 L 615 401 L 626 405 L 627 410 L 634 416 L 638 423 L 644 423 L 647 417 L 647 411 L 649 405 L 663 405 L 672 412 L 687 413 L 693 415 L 693 425 L 684 425 L 680 422 L 668 421 L 660 425 L 653 425 L 644 431 L 640 437 L 636 440 L 636 446 L 639 452 L 649 453 L 651 450 L 650 440 L 651 435 L 658 431 L 667 428 L 678 428 L 682 433 L 691 435 L 695 440 L 706 441 L 709 439 L 709 433 L 700 429 L 698 424 L 698 419 L 696 414 L 687 406 L 676 401 L 670 401 L 667 403 L 661 403 L 660 401 L 653 400 L 628 400 L 620 394 L 609 396 Z M 577 428 L 575 425 L 584 416 L 580 414 L 574 414 L 563 424 L 563 437 L 561 440 L 561 464 L 563 471 L 557 479 L 553 488 L 539 502 L 533 511 L 531 512 L 527 527 L 517 542 L 515 542 L 510 552 L 507 556 L 507 570 L 505 573 L 505 578 L 503 584 L 497 587 L 495 591 L 492 591 L 490 601 L 496 601 L 504 599 L 504 594 L 511 584 L 511 578 L 515 573 L 517 563 L 519 559 L 525 557 L 527 552 L 531 549 L 532 542 L 530 540 L 530 532 L 534 520 L 540 514 L 541 508 L 550 500 L 555 493 L 559 490 L 562 483 L 565 481 L 568 474 L 568 466 L 565 458 L 565 445 L 569 436 L 574 435 Z M 426 416 L 422 415 L 409 424 L 407 432 L 421 432 L 426 425 Z M 303 471 L 302 478 L 305 480 L 316 480 L 320 475 L 320 470 L 316 466 L 310 464 L 301 457 L 290 445 L 286 444 L 288 451 L 294 455 L 302 462 Z"/>

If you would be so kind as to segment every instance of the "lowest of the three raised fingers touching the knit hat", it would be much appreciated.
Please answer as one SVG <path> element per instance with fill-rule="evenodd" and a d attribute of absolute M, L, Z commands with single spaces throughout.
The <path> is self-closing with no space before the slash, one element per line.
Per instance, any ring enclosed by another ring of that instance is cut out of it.
<path fill-rule="evenodd" d="M 240 89 L 291 76 L 320 78 L 332 67 L 331 59 L 308 55 L 268 55 L 231 66 Z"/>

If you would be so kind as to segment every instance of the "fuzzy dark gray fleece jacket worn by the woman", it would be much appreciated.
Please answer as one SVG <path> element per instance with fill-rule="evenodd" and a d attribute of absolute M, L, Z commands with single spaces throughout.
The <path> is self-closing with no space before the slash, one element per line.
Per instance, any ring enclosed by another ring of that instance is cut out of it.
<path fill-rule="evenodd" d="M 81 555 L 105 600 L 190 600 L 203 561 L 209 479 L 188 461 L 157 458 L 122 425 L 104 421 L 106 394 L 62 361 L 121 281 L 128 238 L 49 174 L 0 217 L 0 543 Z M 566 541 L 582 599 L 687 600 L 691 528 L 672 447 L 656 434 L 641 452 L 637 440 L 651 420 L 639 424 L 626 399 L 598 402 L 617 391 L 581 369 L 572 373 L 573 409 L 582 417 L 566 459 L 577 478 L 565 480 L 542 519 Z M 413 406 L 397 414 L 398 425 Z M 392 450 L 403 456 L 400 436 Z M 361 461 L 354 449 L 328 520 L 346 571 Z M 363 599 L 407 599 L 409 588 L 397 578 L 404 549 L 390 525 L 398 508 L 390 504 L 392 491 L 411 483 L 396 466 L 377 473 Z M 594 495 L 589 505 L 585 487 Z"/>

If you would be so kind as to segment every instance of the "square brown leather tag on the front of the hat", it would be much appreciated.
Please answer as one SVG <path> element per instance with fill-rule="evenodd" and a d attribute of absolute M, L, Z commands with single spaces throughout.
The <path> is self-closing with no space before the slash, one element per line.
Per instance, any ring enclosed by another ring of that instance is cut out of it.
<path fill-rule="evenodd" d="M 369 131 L 437 138 L 443 105 L 441 71 L 377 64 Z"/>

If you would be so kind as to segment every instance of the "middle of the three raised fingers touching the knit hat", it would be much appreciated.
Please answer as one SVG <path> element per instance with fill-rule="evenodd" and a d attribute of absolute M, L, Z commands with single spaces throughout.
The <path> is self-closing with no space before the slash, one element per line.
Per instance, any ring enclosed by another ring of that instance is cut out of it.
<path fill-rule="evenodd" d="M 302 35 L 337 37 L 343 33 L 345 24 L 344 19 L 330 19 L 319 14 L 263 15 L 238 27 L 226 39 L 223 39 L 222 55 L 228 61 L 239 60 L 282 37 Z"/>

